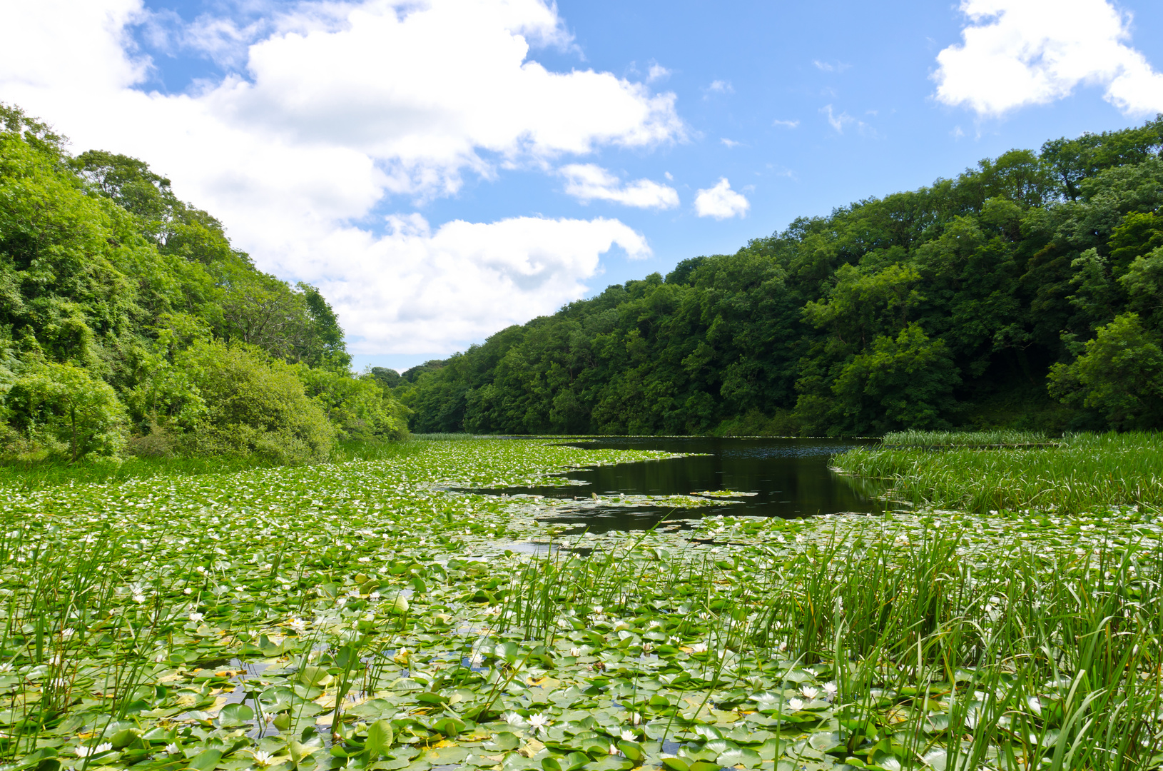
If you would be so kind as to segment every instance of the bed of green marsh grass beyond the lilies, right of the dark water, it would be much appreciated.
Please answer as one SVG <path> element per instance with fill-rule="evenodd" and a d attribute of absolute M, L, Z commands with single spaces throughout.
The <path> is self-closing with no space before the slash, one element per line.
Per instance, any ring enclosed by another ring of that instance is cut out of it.
<path fill-rule="evenodd" d="M 1163 437 L 1156 433 L 1073 434 L 1046 448 L 862 447 L 834 463 L 889 480 L 892 498 L 921 506 L 978 513 L 1163 506 Z"/>

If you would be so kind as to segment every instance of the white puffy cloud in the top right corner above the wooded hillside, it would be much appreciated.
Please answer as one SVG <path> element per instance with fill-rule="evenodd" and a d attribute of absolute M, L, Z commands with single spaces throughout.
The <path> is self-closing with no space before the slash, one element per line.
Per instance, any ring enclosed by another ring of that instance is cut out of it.
<path fill-rule="evenodd" d="M 963 42 L 937 53 L 936 98 L 980 116 L 1101 85 L 1122 113 L 1163 110 L 1163 73 L 1128 45 L 1130 17 L 1105 0 L 963 0 Z"/>

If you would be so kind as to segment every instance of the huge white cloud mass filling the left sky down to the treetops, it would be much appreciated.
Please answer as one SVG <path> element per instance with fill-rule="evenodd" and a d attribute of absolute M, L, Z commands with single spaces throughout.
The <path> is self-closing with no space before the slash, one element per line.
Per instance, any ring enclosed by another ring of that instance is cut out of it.
<path fill-rule="evenodd" d="M 129 34 L 148 23 L 172 47 L 243 64 L 187 93 L 148 92 L 154 64 Z M 263 270 L 337 292 L 359 352 L 451 350 L 469 330 L 479 337 L 580 297 L 611 244 L 649 251 L 616 220 L 450 222 L 429 236 L 386 237 L 354 224 L 373 222 L 393 197 L 452 194 L 466 174 L 552 173 L 563 157 L 684 138 L 675 94 L 529 58 L 533 44 L 568 45 L 563 30 L 547 0 L 319 0 L 258 21 L 204 16 L 185 27 L 152 17 L 142 0 L 0 3 L 0 94 L 77 150 L 149 162 L 221 217 Z M 620 194 L 666 195 L 649 185 Z M 505 267 L 509 252 L 531 267 Z M 447 265 L 458 274 L 440 273 Z M 380 276 L 438 313 L 388 299 Z M 458 276 L 498 294 L 480 290 L 470 302 L 473 285 Z M 395 308 L 391 324 L 364 319 L 386 317 L 384 304 Z M 419 348 L 407 342 L 421 331 Z"/>

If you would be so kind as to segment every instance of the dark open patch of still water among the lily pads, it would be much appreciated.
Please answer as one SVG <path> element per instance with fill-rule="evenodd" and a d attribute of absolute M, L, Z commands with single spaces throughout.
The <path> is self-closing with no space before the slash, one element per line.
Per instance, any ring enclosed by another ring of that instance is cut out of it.
<path fill-rule="evenodd" d="M 493 493 L 534 493 L 549 498 L 590 498 L 609 493 L 672 495 L 729 490 L 755 493 L 737 502 L 698 509 L 594 507 L 566 512 L 555 521 L 594 531 L 632 530 L 669 519 L 716 514 L 800 517 L 837 512 L 879 512 L 876 488 L 832 471 L 829 458 L 861 444 L 859 440 L 715 438 L 705 436 L 615 436 L 568 442 L 573 447 L 618 450 L 666 450 L 692 454 L 669 461 L 622 463 L 579 469 L 563 477 L 586 483 L 568 487 L 514 487 Z M 698 454 L 698 455 L 694 455 Z M 484 492 L 484 491 L 481 491 Z"/>

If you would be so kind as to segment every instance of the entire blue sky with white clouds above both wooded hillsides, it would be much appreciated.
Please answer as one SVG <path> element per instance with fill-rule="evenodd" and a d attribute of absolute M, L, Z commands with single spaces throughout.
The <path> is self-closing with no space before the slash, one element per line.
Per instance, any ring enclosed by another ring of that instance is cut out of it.
<path fill-rule="evenodd" d="M 361 366 L 1163 110 L 1144 0 L 101 1 L 104 42 L 7 41 L 26 60 L 0 53 L 0 100 L 149 160 L 265 270 L 320 285 Z M 81 86 L 50 60 L 78 44 Z M 102 93 L 120 107 L 84 109 Z"/>

